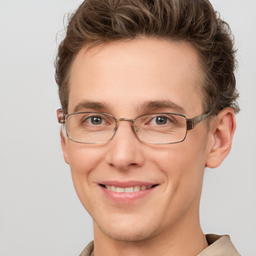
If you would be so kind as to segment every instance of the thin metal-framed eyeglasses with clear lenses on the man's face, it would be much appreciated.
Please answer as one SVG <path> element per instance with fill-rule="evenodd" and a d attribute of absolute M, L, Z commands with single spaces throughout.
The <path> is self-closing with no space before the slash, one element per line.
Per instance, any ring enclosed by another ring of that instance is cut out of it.
<path fill-rule="evenodd" d="M 62 111 L 58 109 L 57 111 Z M 101 112 L 62 113 L 59 123 L 65 124 L 67 136 L 78 143 L 96 144 L 113 138 L 120 121 L 128 121 L 137 138 L 150 144 L 171 144 L 185 139 L 187 130 L 195 127 L 213 112 L 187 118 L 179 113 L 148 113 L 134 119 L 116 118 Z"/>

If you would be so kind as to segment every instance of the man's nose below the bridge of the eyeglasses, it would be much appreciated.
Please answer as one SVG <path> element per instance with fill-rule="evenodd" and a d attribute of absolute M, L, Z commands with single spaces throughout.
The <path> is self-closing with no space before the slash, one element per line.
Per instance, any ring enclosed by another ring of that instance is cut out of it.
<path fill-rule="evenodd" d="M 134 134 L 130 122 L 119 123 L 114 137 L 108 142 L 107 163 L 118 170 L 141 166 L 144 163 L 143 146 Z"/>

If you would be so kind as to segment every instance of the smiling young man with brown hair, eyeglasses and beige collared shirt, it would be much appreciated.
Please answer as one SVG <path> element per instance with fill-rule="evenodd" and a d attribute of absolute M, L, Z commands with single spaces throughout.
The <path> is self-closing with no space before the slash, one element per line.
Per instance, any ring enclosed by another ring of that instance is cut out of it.
<path fill-rule="evenodd" d="M 207 0 L 85 0 L 56 59 L 63 156 L 93 219 L 85 255 L 239 255 L 204 235 L 205 166 L 239 108 L 228 25 Z"/>

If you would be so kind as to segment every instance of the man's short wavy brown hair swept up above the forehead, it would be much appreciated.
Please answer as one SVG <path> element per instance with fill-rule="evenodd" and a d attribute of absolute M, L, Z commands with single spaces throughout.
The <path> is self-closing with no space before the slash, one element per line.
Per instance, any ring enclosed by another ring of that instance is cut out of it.
<path fill-rule="evenodd" d="M 208 0 L 85 0 L 69 17 L 55 61 L 63 111 L 68 106 L 70 66 L 82 47 L 139 37 L 193 45 L 204 71 L 204 111 L 226 106 L 239 111 L 233 36 Z"/>

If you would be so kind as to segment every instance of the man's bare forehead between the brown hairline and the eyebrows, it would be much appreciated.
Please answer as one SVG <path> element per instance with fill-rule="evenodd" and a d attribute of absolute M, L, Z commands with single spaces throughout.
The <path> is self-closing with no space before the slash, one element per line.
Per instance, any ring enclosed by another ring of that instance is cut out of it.
<path fill-rule="evenodd" d="M 169 101 L 185 114 L 200 111 L 201 73 L 196 50 L 186 43 L 147 38 L 83 48 L 70 70 L 68 112 L 82 101 L 133 111 Z"/>

